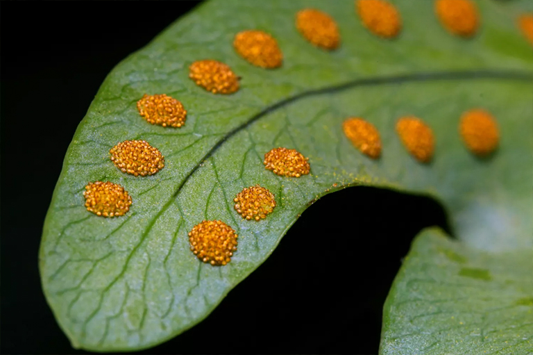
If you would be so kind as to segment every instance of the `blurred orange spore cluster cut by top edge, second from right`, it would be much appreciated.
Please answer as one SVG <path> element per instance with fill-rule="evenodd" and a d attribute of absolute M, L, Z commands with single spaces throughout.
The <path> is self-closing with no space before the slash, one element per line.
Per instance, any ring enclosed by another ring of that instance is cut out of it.
<path fill-rule="evenodd" d="M 435 13 L 448 32 L 462 37 L 475 35 L 480 22 L 471 0 L 436 0 Z"/>

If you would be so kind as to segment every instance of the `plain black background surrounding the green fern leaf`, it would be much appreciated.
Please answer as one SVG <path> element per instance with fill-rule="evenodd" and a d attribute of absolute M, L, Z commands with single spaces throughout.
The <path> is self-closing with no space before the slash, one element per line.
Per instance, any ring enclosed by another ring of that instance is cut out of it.
<path fill-rule="evenodd" d="M 105 76 L 195 5 L 1 3 L 2 353 L 85 353 L 71 348 L 42 294 L 44 216 Z M 143 353 L 377 354 L 401 259 L 433 224 L 445 227 L 446 217 L 424 197 L 360 187 L 323 197 L 206 320 Z"/>

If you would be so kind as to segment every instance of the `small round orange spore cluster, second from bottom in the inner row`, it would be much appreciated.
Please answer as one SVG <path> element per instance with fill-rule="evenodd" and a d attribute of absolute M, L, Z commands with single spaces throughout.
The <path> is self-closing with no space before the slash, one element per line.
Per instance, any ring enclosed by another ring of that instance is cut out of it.
<path fill-rule="evenodd" d="M 233 199 L 235 210 L 246 220 L 261 220 L 266 218 L 276 207 L 274 195 L 260 185 L 242 189 Z"/>

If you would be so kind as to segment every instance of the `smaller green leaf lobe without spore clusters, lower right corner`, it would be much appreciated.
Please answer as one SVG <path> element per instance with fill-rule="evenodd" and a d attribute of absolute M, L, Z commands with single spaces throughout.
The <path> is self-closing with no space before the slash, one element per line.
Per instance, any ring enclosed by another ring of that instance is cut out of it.
<path fill-rule="evenodd" d="M 385 304 L 381 354 L 530 354 L 533 252 L 419 235 Z"/>

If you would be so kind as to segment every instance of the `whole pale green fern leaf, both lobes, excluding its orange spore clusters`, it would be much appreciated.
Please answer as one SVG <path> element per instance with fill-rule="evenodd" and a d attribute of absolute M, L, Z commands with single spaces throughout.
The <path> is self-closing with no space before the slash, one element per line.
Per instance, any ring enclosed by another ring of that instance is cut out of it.
<path fill-rule="evenodd" d="M 432 1 L 394 3 L 403 31 L 383 40 L 362 27 L 352 0 L 208 1 L 113 69 L 67 151 L 40 249 L 46 299 L 73 347 L 130 352 L 182 333 L 271 254 L 313 201 L 373 185 L 434 197 L 457 235 L 450 241 L 425 231 L 416 239 L 384 307 L 380 352 L 531 351 L 533 48 L 516 17 L 533 3 L 479 1 L 482 26 L 470 40 L 440 26 Z M 337 20 L 337 51 L 317 49 L 296 31 L 295 14 L 305 7 Z M 253 67 L 235 53 L 235 33 L 249 28 L 278 40 L 282 67 Z M 214 95 L 189 80 L 189 65 L 206 58 L 230 65 L 241 89 Z M 180 100 L 185 126 L 145 122 L 136 108 L 145 93 Z M 500 125 L 500 147 L 489 158 L 470 154 L 457 132 L 459 116 L 474 107 Z M 394 125 L 402 115 L 434 130 L 432 163 L 418 163 L 401 145 Z M 380 159 L 362 155 L 342 133 L 353 116 L 380 131 Z M 160 149 L 164 169 L 149 177 L 119 171 L 108 151 L 132 139 Z M 301 151 L 311 174 L 265 170 L 274 147 Z M 128 190 L 126 215 L 85 209 L 82 192 L 96 180 Z M 257 183 L 277 206 L 265 220 L 246 221 L 232 199 Z M 187 233 L 202 220 L 237 231 L 228 265 L 201 263 L 189 250 Z"/>

